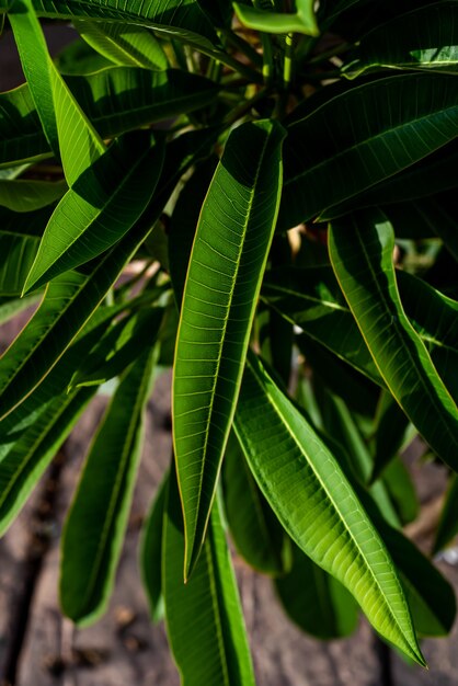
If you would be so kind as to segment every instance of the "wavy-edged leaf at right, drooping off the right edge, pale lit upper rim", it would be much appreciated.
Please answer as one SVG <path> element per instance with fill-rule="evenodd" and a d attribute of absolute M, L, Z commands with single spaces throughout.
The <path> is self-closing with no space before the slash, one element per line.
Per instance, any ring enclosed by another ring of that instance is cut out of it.
<path fill-rule="evenodd" d="M 458 469 L 458 411 L 399 299 L 394 237 L 381 214 L 331 225 L 330 255 L 370 354 L 392 396 L 444 461 Z"/>

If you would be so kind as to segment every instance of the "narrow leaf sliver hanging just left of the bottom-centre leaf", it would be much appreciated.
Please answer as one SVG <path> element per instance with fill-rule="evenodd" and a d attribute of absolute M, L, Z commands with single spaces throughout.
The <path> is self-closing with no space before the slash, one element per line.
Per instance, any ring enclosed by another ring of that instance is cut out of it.
<path fill-rule="evenodd" d="M 139 564 L 147 594 L 149 615 L 156 624 L 163 617 L 162 596 L 162 528 L 169 472 L 163 478 L 141 529 Z"/>

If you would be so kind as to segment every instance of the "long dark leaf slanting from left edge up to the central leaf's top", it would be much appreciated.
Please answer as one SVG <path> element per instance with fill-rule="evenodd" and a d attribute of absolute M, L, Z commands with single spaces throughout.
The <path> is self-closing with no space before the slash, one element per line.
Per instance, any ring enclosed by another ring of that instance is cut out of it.
<path fill-rule="evenodd" d="M 204 151 L 208 153 L 215 138 L 215 132 L 204 130 L 185 134 L 170 144 L 156 199 L 136 226 L 89 273 L 69 272 L 48 286 L 42 306 L 1 358 L 1 416 L 49 374 L 151 231 L 181 175 Z"/>

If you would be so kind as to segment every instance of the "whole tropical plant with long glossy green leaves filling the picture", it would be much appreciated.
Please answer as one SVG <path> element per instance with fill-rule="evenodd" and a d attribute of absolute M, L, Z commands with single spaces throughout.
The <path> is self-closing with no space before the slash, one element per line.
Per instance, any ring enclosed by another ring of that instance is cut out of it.
<path fill-rule="evenodd" d="M 183 683 L 254 684 L 226 528 L 306 631 L 345 636 L 360 606 L 424 664 L 455 597 L 402 533 L 399 455 L 420 434 L 458 467 L 458 2 L 1 12 L 26 78 L 0 94 L 1 321 L 38 304 L 0 364 L 1 531 L 118 379 L 61 545 L 62 611 L 95 621 L 173 364 L 141 568 Z M 54 60 L 39 19 L 79 34 Z"/>

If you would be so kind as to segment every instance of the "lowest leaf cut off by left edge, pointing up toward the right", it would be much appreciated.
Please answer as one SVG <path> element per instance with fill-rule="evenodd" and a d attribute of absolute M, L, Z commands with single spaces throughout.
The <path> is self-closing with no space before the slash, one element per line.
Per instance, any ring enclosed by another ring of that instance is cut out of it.
<path fill-rule="evenodd" d="M 70 396 L 57 397 L 2 455 L 0 461 L 0 536 L 5 533 L 22 510 L 94 393 L 95 389 L 82 389 Z"/>

